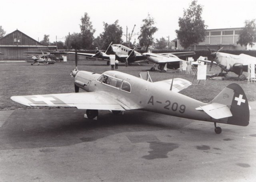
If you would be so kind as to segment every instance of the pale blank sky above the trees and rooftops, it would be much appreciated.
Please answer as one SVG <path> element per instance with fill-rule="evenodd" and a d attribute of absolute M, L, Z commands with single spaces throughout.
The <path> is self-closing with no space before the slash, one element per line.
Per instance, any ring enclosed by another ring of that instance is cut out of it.
<path fill-rule="evenodd" d="M 176 38 L 178 18 L 183 16 L 192 0 L 8 0 L 1 3 L 0 26 L 6 34 L 18 29 L 35 40 L 50 35 L 50 42 L 63 41 L 68 32 L 79 33 L 81 18 L 88 13 L 96 29 L 94 38 L 103 32 L 103 22 L 113 24 L 116 20 L 123 34 L 140 32 L 142 20 L 148 14 L 154 18 L 158 31 L 154 38 Z M 208 29 L 238 28 L 245 20 L 256 19 L 255 0 L 198 0 L 203 6 L 202 19 Z M 57 39 L 56 39 L 57 36 Z M 131 42 L 136 40 L 132 37 Z M 124 42 L 126 37 L 122 37 Z"/>

